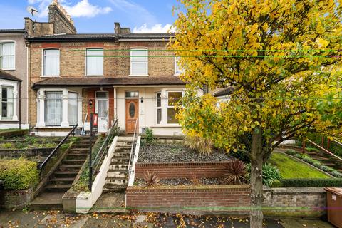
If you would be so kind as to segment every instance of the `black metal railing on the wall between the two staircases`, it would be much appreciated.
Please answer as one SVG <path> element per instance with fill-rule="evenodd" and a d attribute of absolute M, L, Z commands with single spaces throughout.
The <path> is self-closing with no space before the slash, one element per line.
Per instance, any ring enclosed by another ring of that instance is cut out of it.
<path fill-rule="evenodd" d="M 93 177 L 95 177 L 100 169 L 100 165 L 103 162 L 103 158 L 108 153 L 108 149 L 110 147 L 110 144 L 113 142 L 113 138 L 115 137 L 115 132 L 118 129 L 118 119 L 115 120 L 115 123 L 113 124 L 112 128 L 110 128 L 108 135 L 105 137 L 105 140 L 102 142 L 102 145 L 98 152 L 96 152 L 96 155 L 94 159 L 89 160 L 90 165 L 90 172 L 89 172 L 89 190 L 91 191 L 91 186 L 93 183 Z"/>

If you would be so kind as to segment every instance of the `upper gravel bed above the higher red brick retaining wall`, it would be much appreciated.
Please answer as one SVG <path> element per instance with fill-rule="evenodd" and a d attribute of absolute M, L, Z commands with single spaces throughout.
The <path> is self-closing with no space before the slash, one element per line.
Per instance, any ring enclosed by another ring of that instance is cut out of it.
<path fill-rule="evenodd" d="M 230 158 L 227 153 L 217 150 L 210 155 L 200 155 L 182 144 L 152 144 L 140 147 L 138 162 L 214 162 L 227 161 Z"/>

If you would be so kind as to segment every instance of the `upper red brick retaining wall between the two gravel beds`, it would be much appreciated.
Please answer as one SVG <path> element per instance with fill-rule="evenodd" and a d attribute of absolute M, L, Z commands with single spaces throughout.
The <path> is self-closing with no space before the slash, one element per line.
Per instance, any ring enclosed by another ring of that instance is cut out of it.
<path fill-rule="evenodd" d="M 135 177 L 143 177 L 147 171 L 155 172 L 159 178 L 222 177 L 227 162 L 180 162 L 137 163 Z"/>

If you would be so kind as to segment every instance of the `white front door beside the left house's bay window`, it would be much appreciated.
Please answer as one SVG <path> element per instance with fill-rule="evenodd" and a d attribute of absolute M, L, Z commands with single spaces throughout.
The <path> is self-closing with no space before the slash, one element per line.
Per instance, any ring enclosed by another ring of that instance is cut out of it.
<path fill-rule="evenodd" d="M 108 92 L 96 92 L 95 113 L 98 113 L 98 132 L 106 133 L 109 123 Z"/>

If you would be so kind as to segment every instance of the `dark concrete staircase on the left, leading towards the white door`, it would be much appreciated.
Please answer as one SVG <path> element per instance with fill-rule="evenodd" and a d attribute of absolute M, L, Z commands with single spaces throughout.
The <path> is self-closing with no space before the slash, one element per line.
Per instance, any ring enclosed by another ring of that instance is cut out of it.
<path fill-rule="evenodd" d="M 44 189 L 31 202 L 31 209 L 63 209 L 62 197 L 71 187 L 88 154 L 89 136 L 82 136 L 80 140 L 73 142 Z"/>

